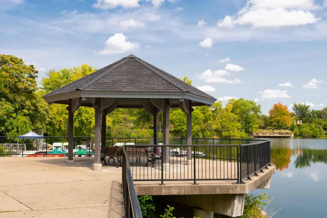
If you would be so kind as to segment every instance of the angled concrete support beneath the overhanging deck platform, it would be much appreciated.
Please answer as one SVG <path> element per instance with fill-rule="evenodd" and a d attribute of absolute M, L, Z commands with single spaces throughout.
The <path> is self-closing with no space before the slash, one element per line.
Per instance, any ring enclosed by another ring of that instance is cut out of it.
<path fill-rule="evenodd" d="M 174 195 L 175 202 L 198 209 L 237 217 L 243 214 L 246 195 Z M 210 213 L 207 213 L 210 215 Z M 201 217 L 201 216 L 200 216 Z M 208 216 L 209 217 L 209 216 Z M 203 217 L 202 217 L 203 218 Z"/>

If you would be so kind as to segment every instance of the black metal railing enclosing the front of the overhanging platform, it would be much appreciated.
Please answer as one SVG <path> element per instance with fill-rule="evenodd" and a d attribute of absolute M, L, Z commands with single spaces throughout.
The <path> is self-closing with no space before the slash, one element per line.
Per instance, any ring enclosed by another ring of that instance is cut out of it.
<path fill-rule="evenodd" d="M 133 181 L 164 184 L 178 180 L 196 184 L 201 180 L 234 180 L 240 184 L 270 165 L 269 140 L 212 140 L 216 145 L 125 145 Z M 191 160 L 187 160 L 187 149 L 191 150 Z M 165 158 L 162 151 L 167 153 Z"/>

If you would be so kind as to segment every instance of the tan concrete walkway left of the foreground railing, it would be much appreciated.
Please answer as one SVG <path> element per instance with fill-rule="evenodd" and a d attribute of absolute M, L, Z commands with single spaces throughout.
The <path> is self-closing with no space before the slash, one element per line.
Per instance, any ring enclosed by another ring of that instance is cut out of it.
<path fill-rule="evenodd" d="M 66 159 L 1 157 L 0 218 L 121 218 L 121 168 Z"/>

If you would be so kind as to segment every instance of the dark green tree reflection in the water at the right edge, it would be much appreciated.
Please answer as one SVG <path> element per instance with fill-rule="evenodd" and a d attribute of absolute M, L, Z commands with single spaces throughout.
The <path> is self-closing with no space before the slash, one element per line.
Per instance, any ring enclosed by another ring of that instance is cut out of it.
<path fill-rule="evenodd" d="M 327 150 L 301 149 L 294 161 L 295 168 L 309 167 L 311 163 L 327 164 Z"/>

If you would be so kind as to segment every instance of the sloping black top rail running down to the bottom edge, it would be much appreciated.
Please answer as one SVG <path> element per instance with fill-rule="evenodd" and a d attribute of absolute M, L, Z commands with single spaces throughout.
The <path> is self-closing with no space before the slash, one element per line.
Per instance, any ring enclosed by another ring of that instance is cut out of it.
<path fill-rule="evenodd" d="M 135 192 L 134 182 L 132 178 L 132 174 L 130 171 L 128 156 L 125 150 L 125 146 L 123 146 L 123 155 L 125 156 L 125 164 L 126 164 L 126 178 L 127 178 L 127 185 L 128 185 L 128 192 L 130 196 L 130 203 L 131 203 L 131 209 L 133 213 L 134 218 L 142 218 L 142 212 L 139 204 L 139 199 Z M 129 199 L 127 199 L 129 200 Z"/>

